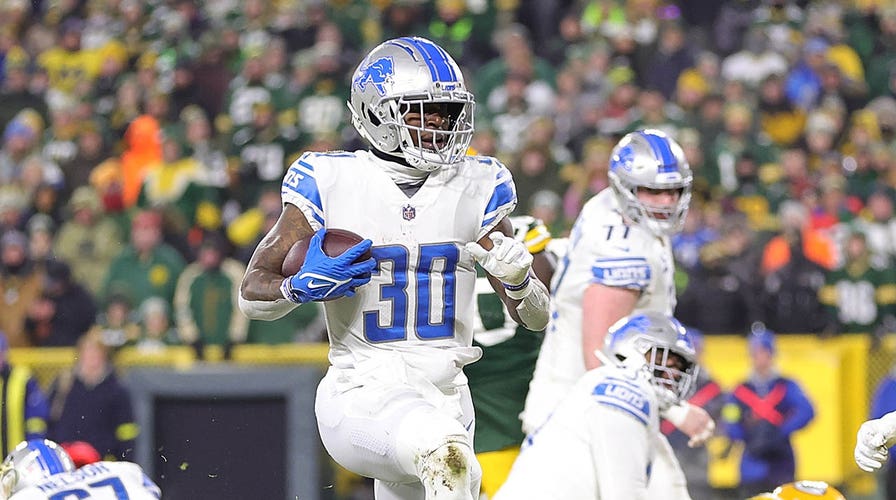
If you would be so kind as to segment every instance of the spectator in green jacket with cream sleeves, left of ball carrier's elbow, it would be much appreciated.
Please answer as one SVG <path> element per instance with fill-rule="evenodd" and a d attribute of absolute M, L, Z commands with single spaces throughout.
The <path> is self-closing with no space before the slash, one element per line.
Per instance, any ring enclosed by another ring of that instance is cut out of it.
<path fill-rule="evenodd" d="M 234 345 L 246 341 L 249 319 L 240 312 L 237 290 L 246 267 L 229 257 L 226 238 L 209 233 L 199 246 L 196 260 L 177 280 L 174 317 L 185 344 L 204 357 L 207 345 L 221 346 L 230 358 Z"/>

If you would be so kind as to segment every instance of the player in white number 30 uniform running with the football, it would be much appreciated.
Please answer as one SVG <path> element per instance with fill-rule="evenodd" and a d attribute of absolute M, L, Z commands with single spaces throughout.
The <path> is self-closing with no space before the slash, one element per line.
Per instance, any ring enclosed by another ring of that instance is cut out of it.
<path fill-rule="evenodd" d="M 241 309 L 276 319 L 325 301 L 331 366 L 315 412 L 329 454 L 374 478 L 378 499 L 470 500 L 481 476 L 463 374 L 481 355 L 472 346 L 474 262 L 514 321 L 537 331 L 548 317 L 547 289 L 506 219 L 513 179 L 498 160 L 466 155 L 474 97 L 429 40 L 371 50 L 348 106 L 371 149 L 307 153 L 289 167 L 283 212 L 250 259 Z M 326 228 L 367 239 L 329 257 Z M 304 238 L 302 267 L 282 276 Z M 372 257 L 356 262 L 368 249 Z"/>

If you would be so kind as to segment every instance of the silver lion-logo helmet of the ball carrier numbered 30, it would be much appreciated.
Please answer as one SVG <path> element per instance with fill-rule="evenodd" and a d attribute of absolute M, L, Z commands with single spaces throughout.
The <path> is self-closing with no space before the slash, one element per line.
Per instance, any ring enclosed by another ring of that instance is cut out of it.
<path fill-rule="evenodd" d="M 460 161 L 473 139 L 473 94 L 444 49 L 419 37 L 387 40 L 361 61 L 352 76 L 352 124 L 370 144 L 427 172 Z M 405 122 L 438 105 L 447 130 Z M 446 116 L 447 115 L 447 116 Z"/>

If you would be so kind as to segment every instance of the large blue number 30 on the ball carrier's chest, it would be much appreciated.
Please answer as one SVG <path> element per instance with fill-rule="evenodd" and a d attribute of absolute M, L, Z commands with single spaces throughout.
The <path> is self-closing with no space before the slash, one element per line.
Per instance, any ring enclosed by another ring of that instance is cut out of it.
<path fill-rule="evenodd" d="M 401 245 L 371 249 L 379 266 L 374 274 L 386 275 L 388 283 L 380 285 L 380 300 L 391 305 L 391 319 L 381 323 L 379 310 L 364 312 L 364 337 L 370 342 L 404 340 L 408 330 L 409 304 L 415 305 L 414 333 L 421 339 L 454 336 L 454 306 L 457 283 L 455 272 L 460 250 L 453 243 L 420 245 L 416 272 L 409 273 L 410 252 Z M 415 280 L 416 297 L 408 296 L 409 280 Z M 437 310 L 433 310 L 436 306 Z"/>

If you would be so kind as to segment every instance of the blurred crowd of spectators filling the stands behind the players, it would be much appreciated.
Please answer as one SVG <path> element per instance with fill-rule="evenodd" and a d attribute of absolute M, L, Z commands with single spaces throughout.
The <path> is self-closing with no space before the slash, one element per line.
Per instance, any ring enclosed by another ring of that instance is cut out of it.
<path fill-rule="evenodd" d="M 462 65 L 473 148 L 563 236 L 623 134 L 684 147 L 686 324 L 893 331 L 896 7 L 876 0 L 3 0 L 0 330 L 12 346 L 320 340 L 236 307 L 279 185 L 356 149 L 350 75 L 419 35 Z"/>

